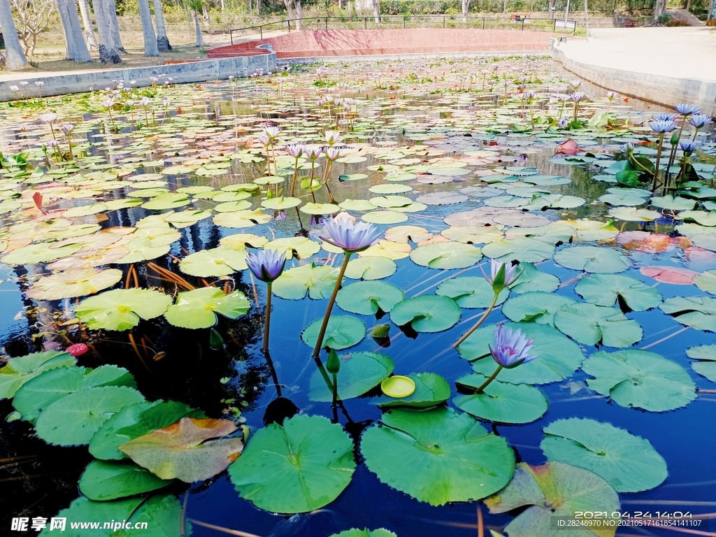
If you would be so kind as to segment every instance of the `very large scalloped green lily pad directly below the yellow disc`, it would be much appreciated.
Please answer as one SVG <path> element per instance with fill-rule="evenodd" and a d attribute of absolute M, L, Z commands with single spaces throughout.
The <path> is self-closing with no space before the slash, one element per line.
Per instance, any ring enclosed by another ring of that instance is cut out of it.
<path fill-rule="evenodd" d="M 504 438 L 444 407 L 392 410 L 365 430 L 360 447 L 382 483 L 430 505 L 493 494 L 508 483 L 515 466 Z"/>

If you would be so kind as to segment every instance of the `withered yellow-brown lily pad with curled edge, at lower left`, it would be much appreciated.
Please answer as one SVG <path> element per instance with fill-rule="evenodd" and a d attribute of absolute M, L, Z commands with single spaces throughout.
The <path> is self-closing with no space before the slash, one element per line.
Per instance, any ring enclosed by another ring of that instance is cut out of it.
<path fill-rule="evenodd" d="M 193 483 L 223 472 L 241 454 L 243 437 L 219 439 L 237 429 L 232 420 L 183 417 L 118 448 L 162 479 Z"/>

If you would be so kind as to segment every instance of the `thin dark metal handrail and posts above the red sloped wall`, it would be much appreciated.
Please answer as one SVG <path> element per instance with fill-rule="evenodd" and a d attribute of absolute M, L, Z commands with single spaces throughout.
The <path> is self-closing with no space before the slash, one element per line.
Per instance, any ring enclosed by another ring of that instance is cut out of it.
<path fill-rule="evenodd" d="M 478 22 L 478 26 L 480 21 L 482 22 L 482 28 L 485 29 L 488 21 L 501 21 L 503 23 L 511 23 L 511 24 L 520 24 L 520 29 L 525 29 L 525 23 L 528 24 L 529 27 L 534 27 L 532 23 L 539 23 L 539 22 L 549 22 L 549 24 L 537 24 L 536 26 L 544 26 L 544 29 L 551 30 L 555 28 L 557 21 L 563 21 L 561 18 L 553 18 L 553 19 L 532 19 L 529 16 L 519 16 L 518 18 L 514 17 L 508 17 L 508 16 L 498 16 L 498 17 L 490 17 L 490 16 L 468 16 L 467 21 L 465 21 L 465 17 L 462 15 L 381 15 L 379 18 L 379 21 L 374 21 L 374 16 L 314 16 L 314 17 L 305 17 L 301 19 L 284 19 L 281 21 L 274 21 L 274 22 L 266 22 L 264 24 L 256 24 L 254 26 L 245 26 L 244 28 L 234 28 L 229 30 L 229 36 L 231 37 L 231 44 L 233 43 L 233 33 L 234 32 L 245 32 L 246 30 L 256 30 L 258 29 L 259 39 L 263 39 L 263 30 L 264 29 L 276 29 L 275 26 L 286 26 L 289 34 L 291 33 L 291 22 L 294 23 L 294 30 L 296 30 L 296 21 L 301 21 L 301 25 L 304 23 L 309 23 L 309 21 L 318 21 L 319 24 L 321 22 L 322 25 L 325 27 L 325 29 L 329 29 L 329 21 L 339 21 L 341 24 L 350 24 L 350 23 L 363 23 L 364 29 L 368 29 L 368 23 L 370 21 L 370 24 L 373 26 L 381 26 L 384 24 L 384 22 L 390 22 L 392 20 L 397 19 L 399 22 L 402 21 L 403 28 L 407 28 L 407 25 L 413 21 L 414 19 L 417 19 L 418 22 L 420 22 L 420 19 L 434 19 L 437 21 L 437 24 L 440 24 L 440 21 L 442 21 L 442 27 L 450 27 L 446 26 L 448 21 L 450 22 L 450 25 L 452 24 L 470 24 L 470 22 Z M 569 22 L 571 20 L 568 19 Z M 273 26 L 274 28 L 269 28 L 270 26 Z M 435 27 L 433 26 L 430 27 Z M 573 34 L 576 34 L 577 26 L 575 25 Z"/>

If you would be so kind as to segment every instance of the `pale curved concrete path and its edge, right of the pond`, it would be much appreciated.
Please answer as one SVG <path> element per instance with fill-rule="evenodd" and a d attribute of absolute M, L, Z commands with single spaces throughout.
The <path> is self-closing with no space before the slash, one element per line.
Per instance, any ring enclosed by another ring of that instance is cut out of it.
<path fill-rule="evenodd" d="M 589 42 L 554 43 L 552 56 L 581 78 L 622 95 L 716 115 L 716 28 L 600 28 Z"/>

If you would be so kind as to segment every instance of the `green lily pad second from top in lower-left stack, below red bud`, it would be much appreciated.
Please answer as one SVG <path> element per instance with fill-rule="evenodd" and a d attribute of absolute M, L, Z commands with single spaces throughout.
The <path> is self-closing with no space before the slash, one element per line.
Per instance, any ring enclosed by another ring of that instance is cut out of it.
<path fill-rule="evenodd" d="M 127 369 L 115 365 L 102 365 L 97 369 L 59 367 L 25 382 L 15 393 L 12 405 L 23 420 L 32 421 L 65 395 L 101 386 L 136 388 L 137 383 Z"/>

